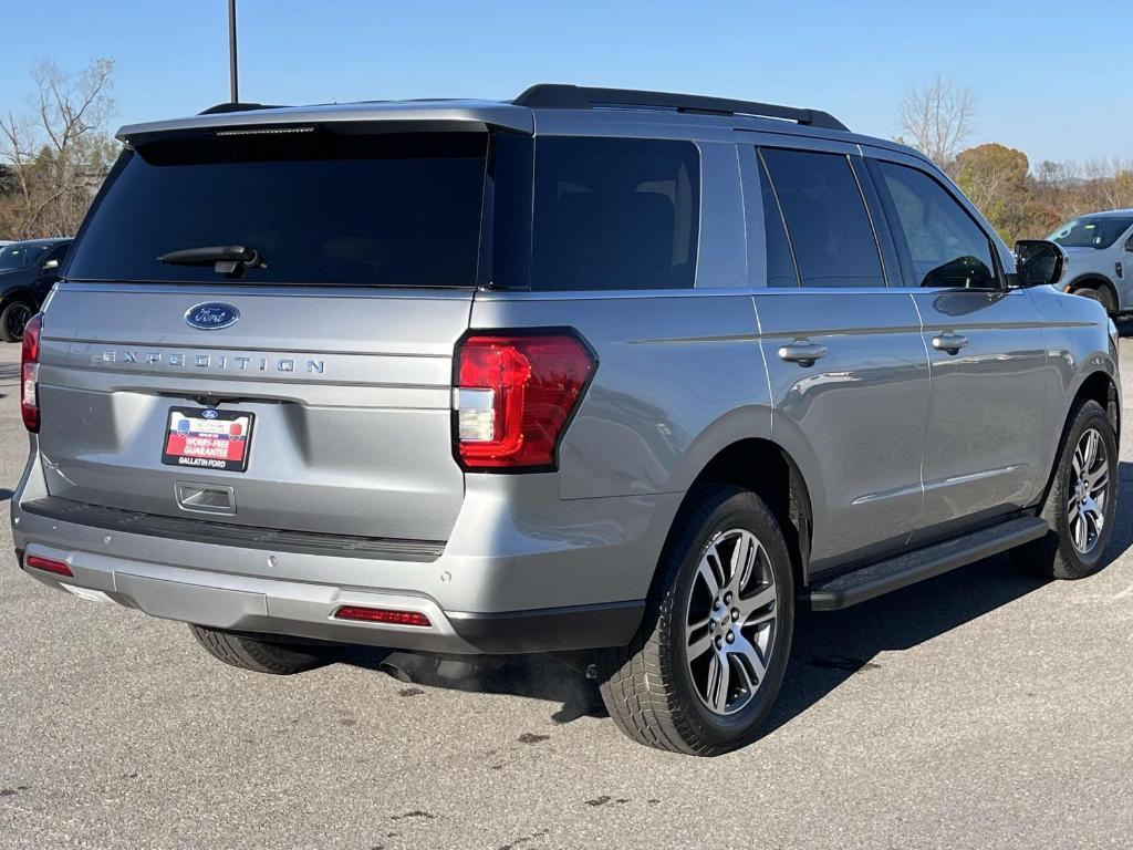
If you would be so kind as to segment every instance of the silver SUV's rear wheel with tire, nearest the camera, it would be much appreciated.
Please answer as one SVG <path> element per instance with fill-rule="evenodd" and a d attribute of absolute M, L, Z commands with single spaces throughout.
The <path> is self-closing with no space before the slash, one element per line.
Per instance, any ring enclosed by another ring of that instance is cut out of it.
<path fill-rule="evenodd" d="M 759 496 L 730 485 L 690 496 L 695 507 L 665 544 L 641 628 L 629 646 L 597 652 L 596 665 L 622 732 L 657 749 L 715 756 L 755 740 L 778 695 L 794 577 Z"/>

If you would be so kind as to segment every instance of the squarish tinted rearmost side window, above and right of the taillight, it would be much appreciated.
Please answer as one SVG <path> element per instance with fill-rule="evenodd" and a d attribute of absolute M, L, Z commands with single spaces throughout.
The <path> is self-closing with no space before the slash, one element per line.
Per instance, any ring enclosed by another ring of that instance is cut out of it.
<path fill-rule="evenodd" d="M 689 142 L 537 139 L 531 288 L 689 288 L 699 206 Z"/>

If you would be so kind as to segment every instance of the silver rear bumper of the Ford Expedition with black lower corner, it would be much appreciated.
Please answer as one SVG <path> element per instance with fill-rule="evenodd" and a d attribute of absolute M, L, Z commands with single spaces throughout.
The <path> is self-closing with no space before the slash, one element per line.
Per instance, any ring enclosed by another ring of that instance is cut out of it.
<path fill-rule="evenodd" d="M 480 476 L 487 481 L 470 482 L 453 536 L 435 560 L 393 560 L 44 516 L 33 504 L 45 498 L 37 466 L 29 464 L 12 499 L 12 533 L 22 567 L 32 554 L 69 566 L 73 578 L 25 567 L 49 586 L 213 628 L 457 654 L 628 644 L 680 501 L 678 494 L 560 501 L 556 476 Z M 509 494 L 516 487 L 526 488 L 523 499 Z M 343 605 L 419 612 L 431 626 L 335 619 Z"/>

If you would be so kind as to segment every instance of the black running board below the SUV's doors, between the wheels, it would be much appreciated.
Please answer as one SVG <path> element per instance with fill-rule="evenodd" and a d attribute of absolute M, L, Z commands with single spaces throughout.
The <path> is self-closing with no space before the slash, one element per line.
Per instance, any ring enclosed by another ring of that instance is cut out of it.
<path fill-rule="evenodd" d="M 1045 519 L 1020 517 L 954 537 L 927 549 L 905 552 L 888 561 L 880 561 L 825 579 L 810 586 L 800 598 L 811 611 L 837 611 L 859 602 L 881 596 L 939 576 L 957 567 L 1006 552 L 1023 543 L 1042 537 L 1050 530 Z"/>

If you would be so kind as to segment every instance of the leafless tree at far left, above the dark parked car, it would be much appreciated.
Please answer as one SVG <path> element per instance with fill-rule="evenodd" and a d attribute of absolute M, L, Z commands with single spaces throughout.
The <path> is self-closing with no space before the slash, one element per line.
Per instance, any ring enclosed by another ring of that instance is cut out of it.
<path fill-rule="evenodd" d="M 105 133 L 114 109 L 113 69 L 111 59 L 96 59 L 78 74 L 36 62 L 27 109 L 0 114 L 0 161 L 9 189 L 0 198 L 5 236 L 57 236 L 78 228 L 116 154 Z"/>

